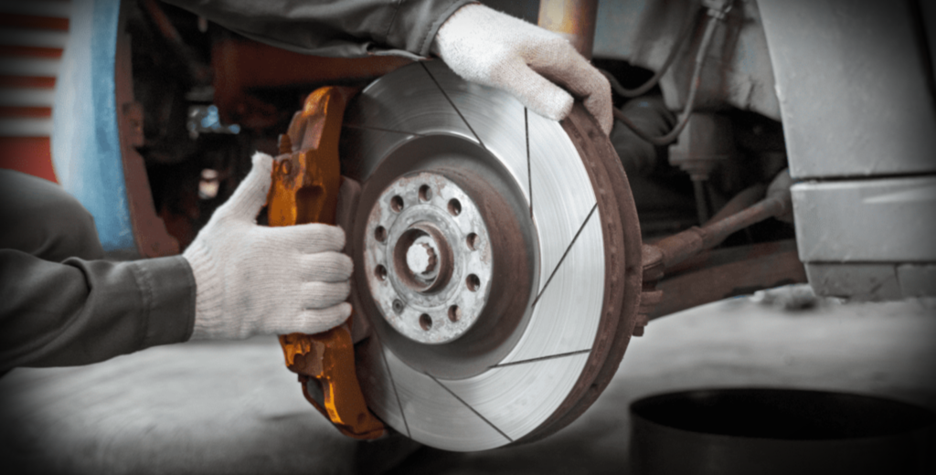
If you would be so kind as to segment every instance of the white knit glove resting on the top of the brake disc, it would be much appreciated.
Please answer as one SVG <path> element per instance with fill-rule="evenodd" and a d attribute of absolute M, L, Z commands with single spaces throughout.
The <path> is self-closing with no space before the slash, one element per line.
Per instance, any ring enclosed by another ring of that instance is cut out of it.
<path fill-rule="evenodd" d="M 611 132 L 611 85 L 562 36 L 470 4 L 442 24 L 431 50 L 462 79 L 514 94 L 524 106 L 554 121 L 572 110 L 572 93 L 605 134 Z"/>

